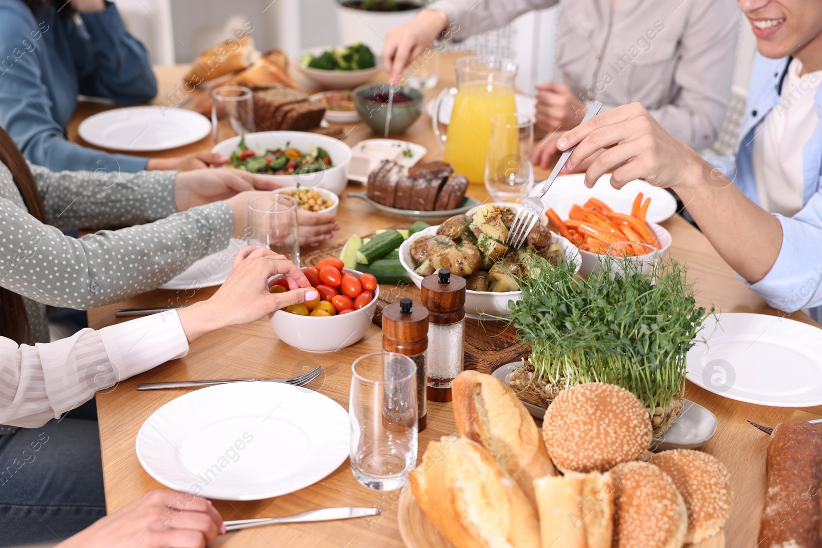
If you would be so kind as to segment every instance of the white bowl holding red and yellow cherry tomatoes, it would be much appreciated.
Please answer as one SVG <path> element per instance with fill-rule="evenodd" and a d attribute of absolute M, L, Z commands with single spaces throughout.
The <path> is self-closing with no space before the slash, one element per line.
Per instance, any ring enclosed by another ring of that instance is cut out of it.
<path fill-rule="evenodd" d="M 357 270 L 343 270 L 358 278 L 363 274 Z M 306 352 L 336 352 L 363 338 L 368 325 L 371 325 L 379 297 L 380 288 L 377 286 L 371 302 L 348 314 L 311 316 L 279 310 L 270 315 L 269 320 L 279 340 L 289 346 Z"/>

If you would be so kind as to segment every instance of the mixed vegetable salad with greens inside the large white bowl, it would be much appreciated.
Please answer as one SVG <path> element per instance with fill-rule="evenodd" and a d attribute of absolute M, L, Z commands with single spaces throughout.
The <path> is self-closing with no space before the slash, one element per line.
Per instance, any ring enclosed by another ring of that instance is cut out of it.
<path fill-rule="evenodd" d="M 267 175 L 314 173 L 333 167 L 331 157 L 321 147 L 312 145 L 311 149 L 303 154 L 302 150 L 286 143 L 284 147 L 259 153 L 248 148 L 245 136 L 242 136 L 237 149 L 231 153 L 229 161 L 229 168 Z"/>

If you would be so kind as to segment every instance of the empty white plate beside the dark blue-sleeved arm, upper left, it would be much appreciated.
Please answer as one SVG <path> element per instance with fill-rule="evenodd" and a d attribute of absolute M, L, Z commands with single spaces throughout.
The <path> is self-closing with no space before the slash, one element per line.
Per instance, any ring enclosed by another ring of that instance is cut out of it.
<path fill-rule="evenodd" d="M 211 131 L 211 122 L 200 113 L 185 108 L 114 108 L 87 117 L 77 132 L 86 142 L 104 149 L 176 149 L 196 143 Z"/>

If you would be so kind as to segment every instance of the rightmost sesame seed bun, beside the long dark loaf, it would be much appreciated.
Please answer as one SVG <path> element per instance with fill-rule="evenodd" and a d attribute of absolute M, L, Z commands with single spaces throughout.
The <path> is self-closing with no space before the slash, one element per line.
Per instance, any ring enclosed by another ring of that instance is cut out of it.
<path fill-rule="evenodd" d="M 674 449 L 653 455 L 677 486 L 688 509 L 686 542 L 699 542 L 717 534 L 731 511 L 731 476 L 714 457 L 691 449 Z"/>

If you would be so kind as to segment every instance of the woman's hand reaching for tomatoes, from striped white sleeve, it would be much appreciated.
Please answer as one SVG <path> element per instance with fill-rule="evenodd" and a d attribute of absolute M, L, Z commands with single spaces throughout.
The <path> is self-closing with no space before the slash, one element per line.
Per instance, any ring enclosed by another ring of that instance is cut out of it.
<path fill-rule="evenodd" d="M 270 293 L 268 280 L 283 274 L 289 291 Z M 316 299 L 317 292 L 302 270 L 285 256 L 266 247 L 244 247 L 234 256 L 229 278 L 207 301 L 178 311 L 182 329 L 192 343 L 206 333 L 229 325 L 248 324 L 290 305 Z"/>

